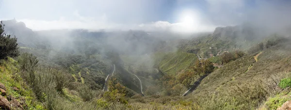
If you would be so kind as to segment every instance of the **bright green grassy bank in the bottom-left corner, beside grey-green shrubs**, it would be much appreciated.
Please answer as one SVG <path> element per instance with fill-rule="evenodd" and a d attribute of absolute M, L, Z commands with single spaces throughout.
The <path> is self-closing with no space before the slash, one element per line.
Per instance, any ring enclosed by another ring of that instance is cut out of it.
<path fill-rule="evenodd" d="M 19 69 L 16 68 L 16 61 L 12 58 L 8 58 L 8 61 L 4 61 L 4 65 L 0 66 L 0 83 L 6 87 L 7 96 L 13 96 L 16 100 L 24 99 L 25 105 L 22 105 L 26 110 L 43 110 L 44 106 L 35 101 L 36 98 L 31 89 L 20 78 Z M 19 91 L 14 91 L 13 87 L 19 88 Z M 12 108 L 16 109 L 16 108 Z"/>

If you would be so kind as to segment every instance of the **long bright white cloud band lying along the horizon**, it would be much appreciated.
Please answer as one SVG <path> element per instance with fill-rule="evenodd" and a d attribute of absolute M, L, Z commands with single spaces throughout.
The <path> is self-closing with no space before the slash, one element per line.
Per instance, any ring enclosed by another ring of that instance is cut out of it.
<path fill-rule="evenodd" d="M 180 22 L 169 23 L 167 21 L 156 21 L 143 24 L 118 24 L 109 22 L 106 14 L 99 18 L 82 16 L 76 10 L 74 16 L 78 19 L 69 20 L 61 16 L 59 20 L 33 20 L 33 19 L 20 19 L 17 21 L 24 22 L 28 28 L 32 30 L 50 30 L 50 29 L 90 29 L 90 30 L 145 30 L 145 31 L 171 31 L 171 32 L 209 32 L 213 31 L 216 26 L 203 23 L 196 19 L 194 23 Z M 197 16 L 198 17 L 198 16 Z"/>

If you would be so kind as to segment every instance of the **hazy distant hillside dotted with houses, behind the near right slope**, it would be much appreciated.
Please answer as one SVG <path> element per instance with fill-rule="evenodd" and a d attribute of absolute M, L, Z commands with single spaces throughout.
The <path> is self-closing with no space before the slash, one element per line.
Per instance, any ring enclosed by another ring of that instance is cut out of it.
<path fill-rule="evenodd" d="M 218 27 L 212 34 L 182 40 L 178 47 L 184 52 L 209 58 L 225 51 L 246 51 L 265 37 L 260 33 L 258 28 L 249 24 Z"/>

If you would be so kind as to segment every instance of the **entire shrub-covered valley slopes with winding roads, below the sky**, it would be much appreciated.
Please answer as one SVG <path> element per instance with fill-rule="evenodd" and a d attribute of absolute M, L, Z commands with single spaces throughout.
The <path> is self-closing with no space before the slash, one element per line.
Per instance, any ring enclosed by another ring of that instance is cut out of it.
<path fill-rule="evenodd" d="M 19 38 L 20 55 L 1 59 L 0 83 L 24 109 L 274 109 L 289 94 L 278 83 L 290 78 L 290 38 L 260 36 L 250 25 L 167 39 L 136 30 L 34 32 L 14 20 L 3 23 Z M 27 42 L 35 45 L 21 44 L 31 34 L 36 39 Z M 36 45 L 42 40 L 47 43 Z"/>

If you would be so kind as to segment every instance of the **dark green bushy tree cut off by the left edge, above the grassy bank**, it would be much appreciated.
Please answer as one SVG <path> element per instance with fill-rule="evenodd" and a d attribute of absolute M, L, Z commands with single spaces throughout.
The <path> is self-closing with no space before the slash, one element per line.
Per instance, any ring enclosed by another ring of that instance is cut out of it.
<path fill-rule="evenodd" d="M 4 33 L 4 26 L 0 22 L 0 59 L 6 59 L 7 56 L 15 57 L 19 55 L 17 47 L 17 39 L 11 38 L 10 35 Z"/>

